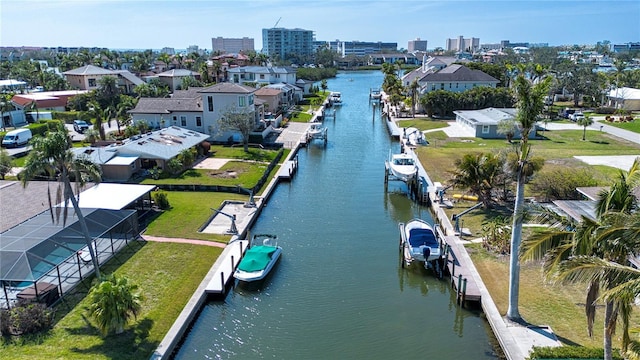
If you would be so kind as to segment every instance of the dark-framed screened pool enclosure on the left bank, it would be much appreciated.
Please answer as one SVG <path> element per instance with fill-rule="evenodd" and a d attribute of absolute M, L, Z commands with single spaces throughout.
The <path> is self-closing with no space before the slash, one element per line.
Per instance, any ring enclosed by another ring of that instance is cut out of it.
<path fill-rule="evenodd" d="M 139 238 L 135 210 L 83 208 L 82 215 L 98 264 Z M 52 222 L 47 210 L 0 234 L 0 307 L 11 307 L 18 300 L 51 305 L 94 270 L 73 209 L 64 226 L 62 220 Z"/>

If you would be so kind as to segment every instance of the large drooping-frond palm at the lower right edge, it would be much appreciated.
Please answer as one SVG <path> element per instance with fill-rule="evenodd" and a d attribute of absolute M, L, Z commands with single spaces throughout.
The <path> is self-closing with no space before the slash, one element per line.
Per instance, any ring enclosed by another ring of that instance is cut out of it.
<path fill-rule="evenodd" d="M 555 228 L 535 235 L 523 244 L 522 259 L 544 259 L 543 269 L 547 276 L 566 283 L 588 284 L 585 313 L 589 336 L 592 335 L 596 300 L 600 290 L 605 290 L 601 297 L 605 300 L 605 359 L 612 357 L 611 339 L 618 315 L 623 323 L 623 348 L 629 344 L 629 314 L 635 296 L 614 289 L 628 290 L 632 286 L 628 284 L 632 280 L 630 277 L 616 271 L 624 268 L 630 256 L 640 253 L 640 216 L 635 212 L 638 199 L 632 192 L 639 180 L 640 159 L 636 159 L 628 173 L 621 171 L 610 189 L 599 194 L 598 220 L 583 218 L 575 231 Z M 564 225 L 562 229 L 567 228 L 567 224 Z"/>

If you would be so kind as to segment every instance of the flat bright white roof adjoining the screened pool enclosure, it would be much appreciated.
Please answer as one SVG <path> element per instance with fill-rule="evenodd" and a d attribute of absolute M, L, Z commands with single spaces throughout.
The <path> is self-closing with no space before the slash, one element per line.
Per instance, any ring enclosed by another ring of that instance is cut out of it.
<path fill-rule="evenodd" d="M 155 185 L 100 183 L 80 193 L 78 206 L 85 209 L 122 210 L 155 187 Z"/>

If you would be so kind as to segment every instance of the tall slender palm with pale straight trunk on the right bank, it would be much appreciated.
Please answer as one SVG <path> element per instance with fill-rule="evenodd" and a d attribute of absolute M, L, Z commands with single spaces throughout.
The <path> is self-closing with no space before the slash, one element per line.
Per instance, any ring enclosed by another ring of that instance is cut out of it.
<path fill-rule="evenodd" d="M 518 149 L 518 162 L 516 164 L 516 201 L 513 208 L 513 225 L 511 227 L 511 254 L 509 261 L 509 308 L 507 318 L 521 321 L 518 310 L 518 298 L 520 291 L 520 242 L 522 241 L 522 210 L 524 208 L 524 185 L 526 181 L 526 168 L 529 161 L 530 145 L 529 133 L 538 120 L 538 115 L 544 110 L 544 96 L 547 94 L 551 78 L 547 77 L 536 85 L 532 85 L 524 74 L 520 73 L 514 82 L 514 91 L 517 98 L 516 121 L 520 130 L 520 146 Z"/>

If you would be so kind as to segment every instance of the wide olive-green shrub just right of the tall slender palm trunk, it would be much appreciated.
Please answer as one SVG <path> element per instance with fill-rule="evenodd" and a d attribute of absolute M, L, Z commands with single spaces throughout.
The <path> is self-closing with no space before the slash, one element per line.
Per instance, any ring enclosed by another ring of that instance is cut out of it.
<path fill-rule="evenodd" d="M 531 181 L 531 190 L 541 201 L 580 200 L 580 186 L 597 186 L 598 182 L 586 169 L 560 168 L 541 171 Z"/>

